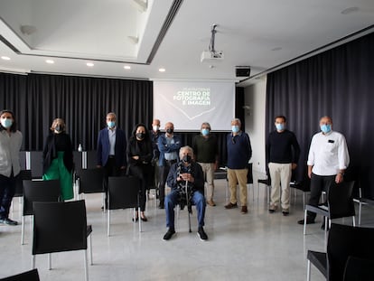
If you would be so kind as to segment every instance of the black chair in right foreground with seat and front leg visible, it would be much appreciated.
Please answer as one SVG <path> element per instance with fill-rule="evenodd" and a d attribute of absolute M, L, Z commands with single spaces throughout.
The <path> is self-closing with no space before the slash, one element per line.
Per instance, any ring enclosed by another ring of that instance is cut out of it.
<path fill-rule="evenodd" d="M 327 252 L 312 250 L 307 252 L 307 280 L 309 281 L 311 278 L 311 264 L 317 267 L 323 276 L 330 281 L 343 280 L 344 271 L 347 270 L 349 270 L 349 273 L 346 273 L 346 275 L 351 275 L 351 272 L 355 272 L 357 267 L 355 265 L 350 267 L 356 268 L 348 267 L 347 260 L 350 256 L 370 261 L 374 260 L 374 243 L 371 243 L 373 237 L 374 229 L 332 223 L 327 240 Z M 372 273 L 370 274 L 370 280 L 372 280 Z"/>

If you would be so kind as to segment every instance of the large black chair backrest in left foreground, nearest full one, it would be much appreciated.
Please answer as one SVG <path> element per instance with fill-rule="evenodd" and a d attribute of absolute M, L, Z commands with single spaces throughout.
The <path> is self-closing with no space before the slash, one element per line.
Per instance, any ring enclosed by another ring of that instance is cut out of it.
<path fill-rule="evenodd" d="M 33 255 L 87 249 L 83 200 L 33 203 Z"/>

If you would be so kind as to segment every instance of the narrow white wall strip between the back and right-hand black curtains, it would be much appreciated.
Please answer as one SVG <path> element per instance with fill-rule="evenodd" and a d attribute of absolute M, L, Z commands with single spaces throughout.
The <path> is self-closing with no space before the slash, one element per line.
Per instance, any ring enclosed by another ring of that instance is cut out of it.
<path fill-rule="evenodd" d="M 252 145 L 253 172 L 264 178 L 266 175 L 265 157 L 265 113 L 266 113 L 266 77 L 244 89 L 246 132 Z M 254 174 L 255 176 L 255 174 Z"/>

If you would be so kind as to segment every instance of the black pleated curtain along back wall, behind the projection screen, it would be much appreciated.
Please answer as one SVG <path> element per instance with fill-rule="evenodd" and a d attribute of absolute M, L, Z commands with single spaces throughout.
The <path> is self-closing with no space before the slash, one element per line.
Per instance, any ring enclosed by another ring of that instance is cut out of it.
<path fill-rule="evenodd" d="M 236 117 L 244 123 L 244 89 L 235 94 Z M 23 150 L 42 150 L 51 122 L 61 117 L 74 149 L 95 150 L 98 131 L 106 126 L 109 111 L 117 114 L 117 126 L 130 136 L 137 123 L 150 126 L 153 118 L 153 83 L 147 80 L 116 80 L 58 75 L 0 73 L 0 110 L 14 111 L 23 133 Z M 162 120 L 163 124 L 167 121 Z M 208 120 L 209 121 L 209 120 Z M 222 120 L 230 129 L 231 120 Z M 198 130 L 199 128 L 196 128 Z M 214 128 L 213 128 L 214 129 Z M 197 133 L 178 133 L 183 145 L 192 145 Z M 219 140 L 220 164 L 227 161 L 226 136 Z"/>

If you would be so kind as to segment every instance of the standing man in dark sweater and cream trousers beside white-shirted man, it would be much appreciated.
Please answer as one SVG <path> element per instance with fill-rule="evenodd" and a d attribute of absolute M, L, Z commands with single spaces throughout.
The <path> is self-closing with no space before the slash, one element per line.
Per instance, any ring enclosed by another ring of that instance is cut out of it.
<path fill-rule="evenodd" d="M 269 212 L 278 209 L 280 185 L 282 186 L 282 213 L 289 214 L 290 181 L 292 170 L 297 166 L 300 146 L 293 132 L 285 128 L 285 117 L 275 118 L 276 130 L 271 132 L 266 141 L 266 161 L 271 179 L 271 198 Z"/>

